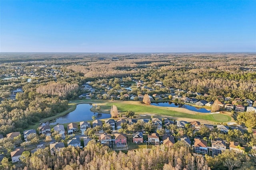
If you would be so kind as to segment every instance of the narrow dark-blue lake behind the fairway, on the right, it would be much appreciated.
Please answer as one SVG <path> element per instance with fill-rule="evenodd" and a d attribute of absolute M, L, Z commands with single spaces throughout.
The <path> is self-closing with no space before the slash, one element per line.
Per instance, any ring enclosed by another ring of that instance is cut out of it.
<path fill-rule="evenodd" d="M 200 113 L 210 113 L 211 112 L 204 108 L 194 107 L 194 106 L 190 106 L 190 105 L 183 105 L 183 104 L 178 104 L 178 103 L 171 103 L 171 102 L 151 103 L 151 105 L 161 106 L 161 107 L 180 107 L 180 108 L 185 108 L 190 111 L 195 111 L 195 112 L 200 112 Z"/>

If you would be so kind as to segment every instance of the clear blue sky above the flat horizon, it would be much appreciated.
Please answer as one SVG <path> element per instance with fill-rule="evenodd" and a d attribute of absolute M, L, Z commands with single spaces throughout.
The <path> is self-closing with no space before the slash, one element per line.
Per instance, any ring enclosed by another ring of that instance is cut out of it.
<path fill-rule="evenodd" d="M 1 52 L 256 51 L 256 0 L 0 0 Z"/>

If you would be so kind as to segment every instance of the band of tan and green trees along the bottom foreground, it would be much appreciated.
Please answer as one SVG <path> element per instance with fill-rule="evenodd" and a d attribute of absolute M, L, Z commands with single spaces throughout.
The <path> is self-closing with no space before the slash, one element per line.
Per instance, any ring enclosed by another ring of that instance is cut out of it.
<path fill-rule="evenodd" d="M 34 154 L 23 152 L 24 168 L 3 162 L 3 169 L 25 170 L 253 170 L 252 158 L 226 150 L 218 156 L 204 158 L 192 154 L 190 147 L 177 142 L 174 147 L 154 146 L 152 149 L 130 150 L 127 154 L 113 151 L 92 140 L 84 150 L 68 146 L 49 156 L 49 148 L 38 149 Z"/>

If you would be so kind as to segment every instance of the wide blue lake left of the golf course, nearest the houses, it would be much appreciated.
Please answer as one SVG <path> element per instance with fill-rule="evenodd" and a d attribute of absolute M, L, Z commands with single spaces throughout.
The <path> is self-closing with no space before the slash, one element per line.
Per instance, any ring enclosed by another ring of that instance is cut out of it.
<path fill-rule="evenodd" d="M 91 121 L 94 115 L 96 119 L 108 119 L 111 117 L 110 114 L 102 113 L 98 114 L 90 111 L 92 104 L 79 104 L 76 105 L 76 110 L 50 121 L 50 125 L 81 122 L 81 121 Z"/>

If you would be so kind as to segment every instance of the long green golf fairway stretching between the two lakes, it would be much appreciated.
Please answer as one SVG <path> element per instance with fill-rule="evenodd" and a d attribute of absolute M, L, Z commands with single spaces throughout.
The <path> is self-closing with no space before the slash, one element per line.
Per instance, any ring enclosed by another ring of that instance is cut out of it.
<path fill-rule="evenodd" d="M 172 117 L 183 117 L 183 118 L 190 118 L 190 119 L 203 119 L 207 121 L 214 121 L 214 122 L 228 122 L 231 121 L 231 117 L 228 115 L 222 114 L 208 114 L 208 113 L 196 113 L 196 114 L 189 114 L 183 113 L 179 111 L 173 111 L 170 107 L 157 107 L 152 105 L 144 105 L 140 102 L 109 102 L 104 103 L 100 107 L 104 110 L 110 110 L 112 105 L 116 105 L 118 107 L 119 112 L 126 112 L 126 111 L 134 111 L 136 114 L 143 114 L 143 113 L 152 113 L 155 115 L 167 115 Z"/>

